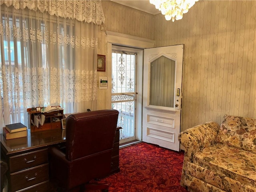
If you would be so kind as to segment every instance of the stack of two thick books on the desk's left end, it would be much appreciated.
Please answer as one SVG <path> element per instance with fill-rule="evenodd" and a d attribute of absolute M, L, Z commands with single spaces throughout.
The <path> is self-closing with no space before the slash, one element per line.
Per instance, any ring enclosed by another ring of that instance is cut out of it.
<path fill-rule="evenodd" d="M 26 137 L 27 127 L 22 123 L 9 124 L 3 127 L 3 136 L 6 140 Z"/>

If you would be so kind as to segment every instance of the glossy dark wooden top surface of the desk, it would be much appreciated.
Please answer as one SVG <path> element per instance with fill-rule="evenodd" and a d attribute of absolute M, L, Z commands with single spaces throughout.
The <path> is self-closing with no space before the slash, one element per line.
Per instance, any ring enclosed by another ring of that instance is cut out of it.
<path fill-rule="evenodd" d="M 30 133 L 29 129 L 27 131 L 27 137 L 10 140 L 6 140 L 3 134 L 0 134 L 1 150 L 5 150 L 5 154 L 7 155 L 18 152 L 24 153 L 34 148 L 44 148 L 66 141 L 66 130 L 53 129 L 33 133 Z"/>

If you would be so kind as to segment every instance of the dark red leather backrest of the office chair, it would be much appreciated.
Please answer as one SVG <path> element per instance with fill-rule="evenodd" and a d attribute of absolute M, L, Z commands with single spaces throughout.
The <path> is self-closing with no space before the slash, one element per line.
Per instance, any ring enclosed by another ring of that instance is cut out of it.
<path fill-rule="evenodd" d="M 112 150 L 117 110 L 71 114 L 66 119 L 66 159 L 69 161 Z"/>

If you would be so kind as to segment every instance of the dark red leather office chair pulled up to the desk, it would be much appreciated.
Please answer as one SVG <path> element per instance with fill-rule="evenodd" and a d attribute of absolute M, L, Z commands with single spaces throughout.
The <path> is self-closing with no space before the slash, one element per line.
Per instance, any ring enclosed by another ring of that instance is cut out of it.
<path fill-rule="evenodd" d="M 68 116 L 66 152 L 50 148 L 51 180 L 65 191 L 107 189 L 107 185 L 94 186 L 88 182 L 110 174 L 117 119 L 118 111 L 112 109 Z"/>

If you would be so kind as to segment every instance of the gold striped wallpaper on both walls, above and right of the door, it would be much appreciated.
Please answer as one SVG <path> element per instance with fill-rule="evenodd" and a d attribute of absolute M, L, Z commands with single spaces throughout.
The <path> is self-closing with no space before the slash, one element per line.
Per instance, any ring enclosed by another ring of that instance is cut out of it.
<path fill-rule="evenodd" d="M 102 6 L 105 30 L 185 45 L 182 130 L 221 123 L 224 114 L 256 118 L 256 1 L 200 0 L 175 22 L 111 1 Z M 105 38 L 101 32 L 99 54 Z"/>

